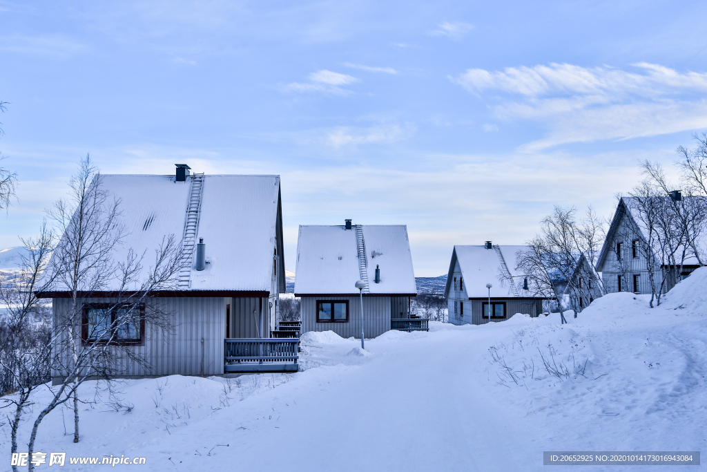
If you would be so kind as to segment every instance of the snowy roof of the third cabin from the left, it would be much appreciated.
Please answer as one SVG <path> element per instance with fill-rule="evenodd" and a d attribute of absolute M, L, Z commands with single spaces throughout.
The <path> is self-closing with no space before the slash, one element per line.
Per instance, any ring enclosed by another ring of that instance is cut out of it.
<path fill-rule="evenodd" d="M 522 290 L 522 274 L 515 269 L 518 265 L 516 258 L 519 251 L 530 250 L 529 246 L 493 246 L 486 249 L 486 246 L 454 246 L 452 260 L 450 263 L 449 275 L 447 277 L 447 287 L 445 296 L 449 297 L 452 284 L 452 272 L 458 262 L 464 279 L 464 290 L 469 298 L 484 298 L 489 296 L 489 289 L 486 284 L 493 285 L 491 297 L 515 297 L 513 289 L 508 280 L 504 280 L 501 257 L 496 250 L 501 251 L 501 256 L 506 262 L 508 272 L 506 276 L 514 277 L 515 287 L 518 289 L 520 297 L 532 297 L 532 294 Z"/>

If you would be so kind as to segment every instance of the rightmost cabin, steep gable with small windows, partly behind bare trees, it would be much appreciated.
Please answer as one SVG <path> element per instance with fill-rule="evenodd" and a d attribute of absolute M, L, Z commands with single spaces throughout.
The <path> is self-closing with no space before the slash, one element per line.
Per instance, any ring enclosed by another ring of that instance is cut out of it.
<path fill-rule="evenodd" d="M 670 196 L 655 198 L 667 202 L 670 198 L 682 199 L 682 196 L 679 192 L 673 192 Z M 680 267 L 682 245 L 674 249 L 675 255 L 672 260 L 668 259 L 668 263 L 663 263 L 658 243 L 655 243 L 653 248 L 649 248 L 649 240 L 649 229 L 641 221 L 638 201 L 633 197 L 622 197 L 614 212 L 595 267 L 602 276 L 604 290 L 607 293 L 651 294 L 653 290 L 650 284 L 650 272 L 653 272 L 657 291 L 665 294 L 679 280 L 684 280 L 701 266 L 694 248 L 687 248 L 684 264 L 682 268 Z M 703 241 L 700 242 L 703 244 Z M 652 260 L 653 270 L 649 270 L 649 259 Z M 680 272 L 679 275 L 677 272 Z"/>

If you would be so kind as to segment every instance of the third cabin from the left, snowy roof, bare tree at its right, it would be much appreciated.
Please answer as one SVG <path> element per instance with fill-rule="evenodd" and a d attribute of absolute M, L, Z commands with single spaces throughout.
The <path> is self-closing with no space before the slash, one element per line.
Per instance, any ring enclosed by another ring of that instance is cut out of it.
<path fill-rule="evenodd" d="M 444 292 L 449 304 L 448 321 L 480 325 L 507 320 L 515 313 L 542 313 L 547 298 L 524 290 L 525 280 L 515 270 L 516 254 L 527 248 L 498 246 L 491 241 L 479 246 L 454 246 Z M 486 284 L 491 284 L 491 289 Z"/>

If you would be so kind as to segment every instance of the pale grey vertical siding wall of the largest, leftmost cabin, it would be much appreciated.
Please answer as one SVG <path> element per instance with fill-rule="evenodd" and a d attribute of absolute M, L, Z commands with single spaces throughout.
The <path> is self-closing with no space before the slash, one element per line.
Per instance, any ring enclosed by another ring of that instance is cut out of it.
<path fill-rule="evenodd" d="M 143 367 L 127 359 L 117 359 L 115 376 L 219 375 L 223 374 L 223 338 L 226 331 L 226 304 L 231 306 L 231 330 L 239 337 L 257 337 L 259 298 L 154 298 L 148 304 L 165 313 L 173 313 L 168 333 L 146 323 L 145 343 L 131 347 L 148 360 Z M 263 304 L 268 303 L 264 298 Z M 111 303 L 115 299 L 90 299 L 91 303 Z M 54 299 L 54 316 L 62 316 L 71 299 Z M 251 320 L 255 309 L 255 319 Z M 264 333 L 269 337 L 269 316 L 264 311 Z M 53 371 L 53 377 L 62 372 Z"/>

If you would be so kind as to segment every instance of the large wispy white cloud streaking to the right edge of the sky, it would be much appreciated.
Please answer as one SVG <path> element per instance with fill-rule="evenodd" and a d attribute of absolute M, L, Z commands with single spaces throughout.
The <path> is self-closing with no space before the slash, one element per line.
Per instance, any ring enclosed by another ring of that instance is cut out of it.
<path fill-rule="evenodd" d="M 707 127 L 707 73 L 633 66 L 637 72 L 572 64 L 468 69 L 450 80 L 476 96 L 497 100 L 491 106 L 497 119 L 547 125 L 548 136 L 527 144 L 527 150 Z"/>

